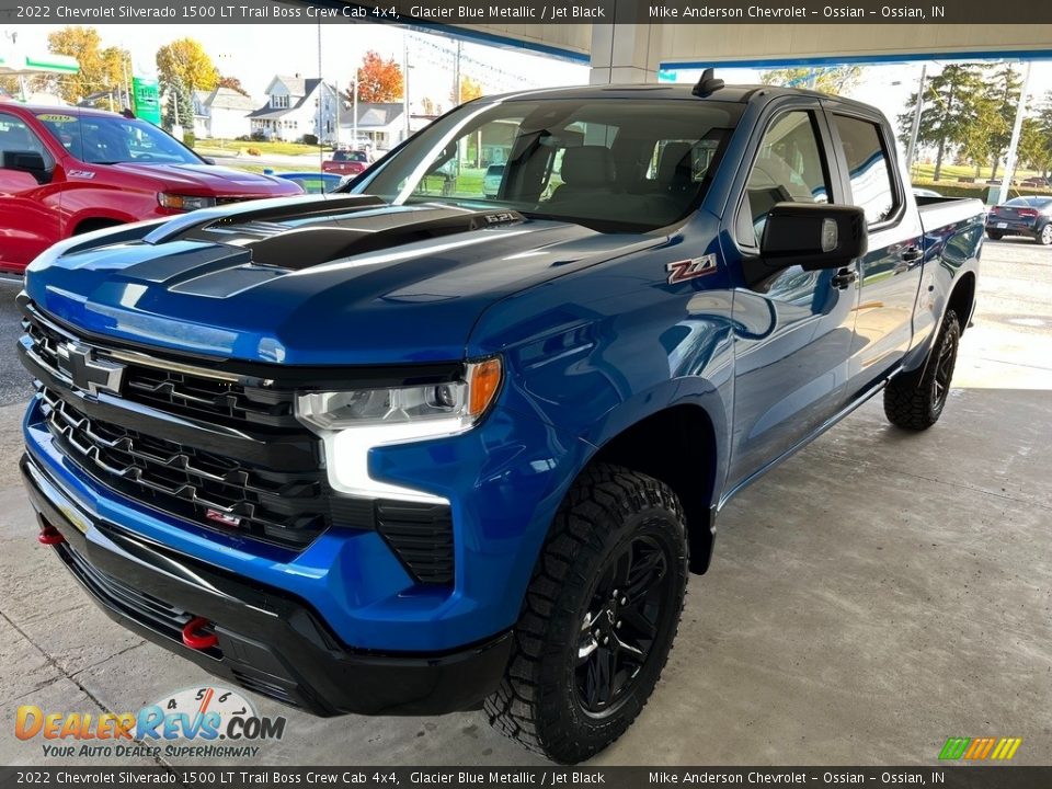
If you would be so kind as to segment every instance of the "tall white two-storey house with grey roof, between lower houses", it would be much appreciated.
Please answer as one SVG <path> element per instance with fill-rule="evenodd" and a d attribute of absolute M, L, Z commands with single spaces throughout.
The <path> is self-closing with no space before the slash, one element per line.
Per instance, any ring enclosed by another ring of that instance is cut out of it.
<path fill-rule="evenodd" d="M 251 133 L 289 141 L 310 134 L 331 142 L 335 139 L 338 102 L 336 89 L 328 82 L 278 75 L 266 89 L 266 104 L 248 115 Z"/>

